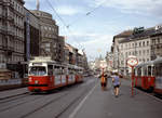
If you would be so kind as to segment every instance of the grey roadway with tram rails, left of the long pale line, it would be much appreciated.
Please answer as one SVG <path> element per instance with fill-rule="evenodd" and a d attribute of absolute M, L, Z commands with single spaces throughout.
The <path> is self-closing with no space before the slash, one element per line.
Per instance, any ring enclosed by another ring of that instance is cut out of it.
<path fill-rule="evenodd" d="M 1 100 L 0 118 L 58 118 L 87 94 L 95 80 L 86 78 L 81 84 L 56 90 L 51 94 L 28 93 Z M 25 90 L 18 91 L 21 93 Z"/>

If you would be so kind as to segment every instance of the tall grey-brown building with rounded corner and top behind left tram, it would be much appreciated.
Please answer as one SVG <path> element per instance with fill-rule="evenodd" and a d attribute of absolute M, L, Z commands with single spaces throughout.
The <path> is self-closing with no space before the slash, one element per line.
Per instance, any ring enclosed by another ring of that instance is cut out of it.
<path fill-rule="evenodd" d="M 58 26 L 55 21 L 52 18 L 52 14 L 31 10 L 36 16 L 39 17 L 39 24 L 41 29 L 40 37 L 40 55 L 42 56 L 51 56 L 52 60 L 58 61 L 59 54 L 57 52 L 57 43 L 58 43 Z"/>

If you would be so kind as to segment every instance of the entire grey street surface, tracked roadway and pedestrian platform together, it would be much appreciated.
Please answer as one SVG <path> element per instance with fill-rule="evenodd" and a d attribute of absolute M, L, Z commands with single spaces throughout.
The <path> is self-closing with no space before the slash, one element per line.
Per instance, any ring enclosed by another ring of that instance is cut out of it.
<path fill-rule="evenodd" d="M 99 80 L 90 77 L 81 84 L 51 94 L 29 93 L 1 100 L 0 118 L 162 117 L 162 100 L 138 90 L 135 90 L 135 96 L 131 97 L 131 82 L 122 80 L 120 96 L 116 99 L 110 81 L 108 89 L 102 91 Z"/>

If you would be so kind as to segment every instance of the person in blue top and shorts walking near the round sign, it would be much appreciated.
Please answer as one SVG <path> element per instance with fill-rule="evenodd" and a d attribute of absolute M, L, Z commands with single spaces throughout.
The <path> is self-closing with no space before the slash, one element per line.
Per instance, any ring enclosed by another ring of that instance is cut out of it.
<path fill-rule="evenodd" d="M 112 84 L 113 84 L 113 91 L 116 97 L 119 96 L 119 88 L 121 86 L 120 77 L 118 76 L 118 73 L 114 73 L 114 76 L 112 76 Z"/>

